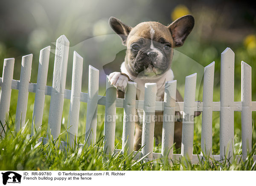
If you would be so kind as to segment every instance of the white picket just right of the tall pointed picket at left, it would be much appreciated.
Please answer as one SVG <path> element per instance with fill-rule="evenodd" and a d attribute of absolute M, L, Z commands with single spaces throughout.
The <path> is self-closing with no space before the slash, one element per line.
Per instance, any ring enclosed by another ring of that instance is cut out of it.
<path fill-rule="evenodd" d="M 70 111 L 69 111 L 68 122 L 67 122 L 67 128 L 68 128 L 67 139 L 71 146 L 73 146 L 73 143 L 76 142 L 76 139 L 78 136 L 82 75 L 83 75 L 83 58 L 76 51 L 74 51 Z"/>

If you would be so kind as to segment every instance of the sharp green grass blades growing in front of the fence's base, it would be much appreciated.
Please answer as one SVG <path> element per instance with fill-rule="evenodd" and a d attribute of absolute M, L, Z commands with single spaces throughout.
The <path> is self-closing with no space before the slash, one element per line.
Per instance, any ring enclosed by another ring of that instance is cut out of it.
<path fill-rule="evenodd" d="M 43 143 L 41 137 L 45 133 L 36 132 L 31 137 L 29 122 L 18 133 L 14 130 L 12 120 L 6 125 L 6 137 L 0 139 L 0 170 L 180 170 L 181 167 L 183 170 L 256 170 L 256 161 L 253 162 L 252 158 L 256 145 L 247 159 L 244 162 L 240 160 L 238 164 L 235 161 L 230 163 L 228 159 L 219 163 L 206 157 L 198 165 L 181 160 L 171 166 L 166 158 L 150 162 L 145 157 L 134 159 L 133 154 L 106 154 L 102 148 L 98 148 L 103 146 L 103 128 L 98 132 L 99 137 L 94 146 L 66 148 L 59 142 L 66 131 L 58 139 L 50 138 L 51 140 Z M 241 151 L 240 145 L 236 143 L 235 146 Z M 159 147 L 155 147 L 156 151 Z M 194 149 L 196 154 L 200 154 L 197 144 Z"/>

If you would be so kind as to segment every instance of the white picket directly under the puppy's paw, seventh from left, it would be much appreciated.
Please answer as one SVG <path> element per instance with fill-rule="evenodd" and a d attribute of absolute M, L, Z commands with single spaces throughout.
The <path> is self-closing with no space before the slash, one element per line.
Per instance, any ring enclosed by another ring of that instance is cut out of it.
<path fill-rule="evenodd" d="M 106 78 L 106 106 L 104 122 L 104 151 L 111 154 L 115 146 L 116 130 L 116 88 Z"/>

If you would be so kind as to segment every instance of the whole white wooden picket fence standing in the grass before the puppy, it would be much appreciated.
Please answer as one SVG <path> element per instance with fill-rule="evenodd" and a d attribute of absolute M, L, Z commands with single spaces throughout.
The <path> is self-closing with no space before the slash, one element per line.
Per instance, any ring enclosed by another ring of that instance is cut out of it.
<path fill-rule="evenodd" d="M 224 156 L 233 158 L 234 151 L 234 111 L 241 111 L 242 156 L 252 148 L 252 111 L 256 111 L 256 102 L 251 99 L 251 67 L 241 62 L 241 102 L 234 102 L 234 52 L 227 48 L 221 53 L 221 98 L 220 102 L 212 102 L 214 65 L 212 62 L 204 68 L 203 102 L 195 102 L 196 73 L 186 77 L 184 102 L 175 102 L 176 80 L 166 82 L 164 102 L 155 102 L 156 84 L 145 84 L 145 100 L 136 100 L 136 83 L 128 82 L 125 99 L 116 98 L 116 89 L 106 78 L 106 96 L 99 96 L 99 70 L 89 66 L 88 93 L 81 92 L 83 58 L 74 51 L 73 76 L 71 90 L 65 90 L 69 41 L 62 35 L 56 41 L 55 63 L 52 87 L 46 86 L 49 64 L 50 46 L 42 49 L 39 57 L 37 84 L 30 83 L 32 54 L 23 56 L 20 80 L 13 80 L 14 58 L 4 60 L 3 76 L 0 78 L 0 121 L 8 120 L 8 112 L 12 89 L 19 90 L 15 118 L 16 131 L 25 125 L 29 92 L 35 93 L 35 104 L 32 116 L 32 134 L 34 128 L 40 130 L 43 117 L 45 95 L 51 96 L 49 108 L 48 130 L 52 136 L 58 137 L 61 132 L 61 117 L 64 99 L 70 99 L 68 119 L 69 142 L 73 144 L 78 135 L 80 102 L 87 102 L 87 118 L 85 139 L 88 145 L 96 142 L 97 105 L 105 105 L 104 149 L 113 151 L 133 151 L 135 109 L 144 110 L 142 151 L 136 157 L 148 154 L 149 160 L 168 156 L 174 162 L 186 157 L 191 163 L 198 163 L 203 153 L 215 160 Z M 116 108 L 124 108 L 122 149 L 114 149 Z M 153 152 L 154 121 L 148 121 L 155 110 L 163 110 L 164 116 L 174 116 L 175 111 L 182 110 L 187 116 L 202 111 L 201 154 L 193 154 L 194 122 L 183 119 L 181 154 L 173 154 L 174 121 L 163 122 L 162 152 Z M 220 111 L 220 154 L 212 154 L 212 111 Z M 111 118 L 112 117 L 112 118 Z M 67 142 L 63 142 L 67 144 Z M 135 153 L 135 152 L 134 152 Z M 256 159 L 256 155 L 253 156 Z"/>

